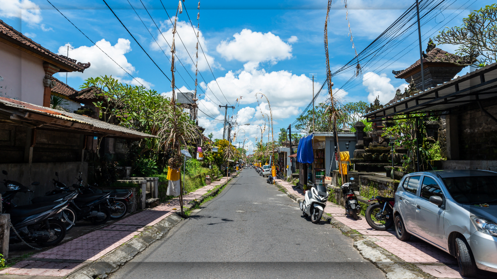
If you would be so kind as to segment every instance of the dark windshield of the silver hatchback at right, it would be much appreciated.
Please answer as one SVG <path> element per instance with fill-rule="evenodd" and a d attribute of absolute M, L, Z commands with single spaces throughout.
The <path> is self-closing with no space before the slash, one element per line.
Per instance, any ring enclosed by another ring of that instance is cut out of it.
<path fill-rule="evenodd" d="M 497 176 L 448 177 L 443 183 L 460 204 L 496 203 Z"/>

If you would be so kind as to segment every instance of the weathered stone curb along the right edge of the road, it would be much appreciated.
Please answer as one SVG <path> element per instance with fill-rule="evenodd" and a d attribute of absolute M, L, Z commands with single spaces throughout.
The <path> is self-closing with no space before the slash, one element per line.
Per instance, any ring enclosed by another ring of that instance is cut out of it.
<path fill-rule="evenodd" d="M 282 185 L 275 183 L 281 191 L 285 192 L 288 197 L 296 202 L 300 202 L 302 198 L 291 194 Z M 300 201 L 299 201 L 300 200 Z M 436 279 L 419 269 L 413 264 L 406 263 L 397 256 L 376 245 L 373 241 L 374 237 L 364 236 L 357 231 L 346 226 L 337 219 L 328 216 L 323 217 L 332 227 L 340 230 L 342 234 L 354 240 L 354 247 L 361 253 L 362 257 L 370 261 L 373 265 L 385 273 L 387 279 Z"/>

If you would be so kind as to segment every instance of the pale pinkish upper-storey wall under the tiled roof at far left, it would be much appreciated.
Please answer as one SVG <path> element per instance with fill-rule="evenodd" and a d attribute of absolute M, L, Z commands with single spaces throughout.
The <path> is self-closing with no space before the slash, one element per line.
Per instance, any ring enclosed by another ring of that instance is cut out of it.
<path fill-rule="evenodd" d="M 43 105 L 43 60 L 0 43 L 0 96 Z"/>

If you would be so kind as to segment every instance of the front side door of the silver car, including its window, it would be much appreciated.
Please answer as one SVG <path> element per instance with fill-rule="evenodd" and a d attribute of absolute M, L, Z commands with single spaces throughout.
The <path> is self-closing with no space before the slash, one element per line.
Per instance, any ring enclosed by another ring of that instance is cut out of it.
<path fill-rule="evenodd" d="M 429 176 L 423 176 L 421 191 L 416 199 L 416 227 L 417 234 L 422 238 L 446 249 L 445 231 L 443 225 L 444 209 L 429 202 L 431 196 L 438 196 L 444 200 L 438 183 Z"/>

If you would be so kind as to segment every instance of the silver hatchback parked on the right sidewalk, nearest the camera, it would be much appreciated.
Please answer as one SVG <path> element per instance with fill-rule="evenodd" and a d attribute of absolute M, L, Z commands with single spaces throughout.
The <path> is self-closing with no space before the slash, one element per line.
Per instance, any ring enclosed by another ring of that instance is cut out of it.
<path fill-rule="evenodd" d="M 462 276 L 497 272 L 497 172 L 442 170 L 403 177 L 395 192 L 397 238 L 411 235 L 457 258 Z"/>

